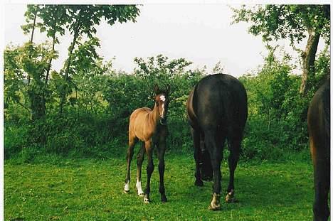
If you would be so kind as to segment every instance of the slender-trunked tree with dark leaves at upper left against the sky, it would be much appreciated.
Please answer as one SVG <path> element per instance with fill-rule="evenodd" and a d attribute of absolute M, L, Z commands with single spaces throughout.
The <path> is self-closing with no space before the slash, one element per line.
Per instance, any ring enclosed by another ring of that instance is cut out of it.
<path fill-rule="evenodd" d="M 23 31 L 28 33 L 31 31 L 31 43 L 33 43 L 33 33 L 35 28 L 46 31 L 46 36 L 52 38 L 52 53 L 55 54 L 55 45 L 59 43 L 58 36 L 62 36 L 68 29 L 73 35 L 73 41 L 68 48 L 68 58 L 60 75 L 63 78 L 63 85 L 58 87 L 60 97 L 60 114 L 63 112 L 63 105 L 66 102 L 66 96 L 71 92 L 73 85 L 70 82 L 73 72 L 73 53 L 80 41 L 80 38 L 94 38 L 96 33 L 95 26 L 100 24 L 101 18 L 105 18 L 111 26 L 115 22 L 135 21 L 139 15 L 139 9 L 135 5 L 30 5 L 26 11 L 27 24 L 22 26 Z M 37 22 L 39 18 L 41 22 Z M 97 45 L 99 46 L 99 45 Z M 45 85 L 48 84 L 51 63 L 53 58 L 48 60 L 46 68 Z M 30 81 L 30 80 L 29 80 Z M 43 100 L 44 94 L 41 96 Z M 43 102 L 43 101 L 41 101 Z"/>

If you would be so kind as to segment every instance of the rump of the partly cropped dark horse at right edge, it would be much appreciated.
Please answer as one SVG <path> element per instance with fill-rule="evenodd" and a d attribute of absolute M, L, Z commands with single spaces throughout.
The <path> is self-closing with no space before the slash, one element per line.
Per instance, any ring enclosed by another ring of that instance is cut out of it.
<path fill-rule="evenodd" d="M 312 148 L 329 157 L 330 141 L 330 86 L 329 81 L 314 94 L 307 112 L 307 126 Z M 313 150 L 312 150 L 313 151 Z"/>

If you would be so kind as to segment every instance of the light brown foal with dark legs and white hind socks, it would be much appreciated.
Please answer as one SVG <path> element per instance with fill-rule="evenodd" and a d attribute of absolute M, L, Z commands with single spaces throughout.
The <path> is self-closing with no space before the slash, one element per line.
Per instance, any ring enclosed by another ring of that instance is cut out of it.
<path fill-rule="evenodd" d="M 129 192 L 129 171 L 133 157 L 134 146 L 137 141 L 142 141 L 142 148 L 137 153 L 137 194 L 144 196 L 144 203 L 149 203 L 150 193 L 150 178 L 154 171 L 154 163 L 152 159 L 152 151 L 154 146 L 157 146 L 159 153 L 159 193 L 161 193 L 162 202 L 166 202 L 164 190 L 164 153 L 166 148 L 166 136 L 168 128 L 166 126 L 166 114 L 169 106 L 169 90 L 167 86 L 165 92 L 159 90 L 155 85 L 154 92 L 156 93 L 154 109 L 142 107 L 134 110 L 129 118 L 128 131 L 128 149 L 127 149 L 127 173 L 125 178 L 125 193 Z M 144 161 L 144 152 L 147 153 L 147 185 L 144 192 L 141 186 L 141 168 Z"/>

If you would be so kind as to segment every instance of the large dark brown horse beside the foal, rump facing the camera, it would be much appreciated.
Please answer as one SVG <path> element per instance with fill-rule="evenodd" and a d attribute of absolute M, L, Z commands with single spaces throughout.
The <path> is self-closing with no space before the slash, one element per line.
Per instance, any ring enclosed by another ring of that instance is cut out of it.
<path fill-rule="evenodd" d="M 194 139 L 195 185 L 203 185 L 202 176 L 213 171 L 213 200 L 210 210 L 221 208 L 221 160 L 228 141 L 230 156 L 227 202 L 234 201 L 234 172 L 240 154 L 240 141 L 248 117 L 248 102 L 243 85 L 231 75 L 203 77 L 187 100 L 187 114 Z M 209 154 L 207 154 L 209 153 Z M 206 173 L 206 174 L 201 174 Z"/>

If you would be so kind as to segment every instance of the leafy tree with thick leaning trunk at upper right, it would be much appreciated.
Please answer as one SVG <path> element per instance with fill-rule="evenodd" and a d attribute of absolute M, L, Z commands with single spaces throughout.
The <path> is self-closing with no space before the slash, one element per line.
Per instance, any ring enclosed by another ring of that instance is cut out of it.
<path fill-rule="evenodd" d="M 233 23 L 250 22 L 249 32 L 262 35 L 266 43 L 289 38 L 290 45 L 295 48 L 295 43 L 307 38 L 305 50 L 298 50 L 302 58 L 300 93 L 306 95 L 310 86 L 308 80 L 315 73 L 319 38 L 324 38 L 327 44 L 330 41 L 329 5 L 258 5 L 251 9 L 242 6 L 233 12 Z"/>

